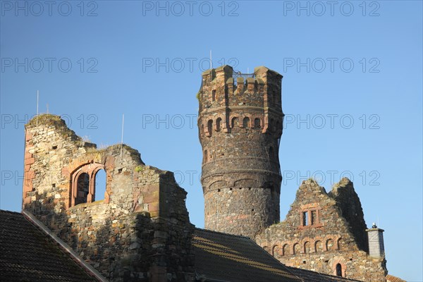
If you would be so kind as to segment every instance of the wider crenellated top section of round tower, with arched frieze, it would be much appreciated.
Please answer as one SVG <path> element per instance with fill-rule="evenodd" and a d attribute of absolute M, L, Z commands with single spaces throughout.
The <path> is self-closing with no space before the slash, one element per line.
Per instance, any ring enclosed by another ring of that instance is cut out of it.
<path fill-rule="evenodd" d="M 264 66 L 252 74 L 233 71 L 231 66 L 204 71 L 199 92 L 201 133 L 230 133 L 238 128 L 281 135 L 282 75 Z"/>

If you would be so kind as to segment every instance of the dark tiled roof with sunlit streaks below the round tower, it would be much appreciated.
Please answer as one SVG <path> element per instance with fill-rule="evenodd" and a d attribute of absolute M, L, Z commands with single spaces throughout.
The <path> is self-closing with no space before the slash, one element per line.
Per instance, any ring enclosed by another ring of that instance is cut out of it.
<path fill-rule="evenodd" d="M 200 281 L 354 281 L 285 266 L 243 236 L 196 228 L 192 245 L 195 249 L 195 274 Z"/>

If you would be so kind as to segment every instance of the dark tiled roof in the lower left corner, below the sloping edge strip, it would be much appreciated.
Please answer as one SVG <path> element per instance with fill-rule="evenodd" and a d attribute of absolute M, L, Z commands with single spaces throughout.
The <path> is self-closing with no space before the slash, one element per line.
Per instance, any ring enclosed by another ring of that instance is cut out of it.
<path fill-rule="evenodd" d="M 97 281 L 22 214 L 0 210 L 0 280 Z"/>

